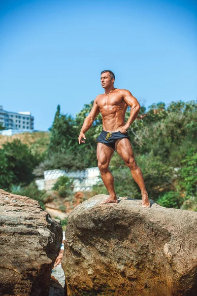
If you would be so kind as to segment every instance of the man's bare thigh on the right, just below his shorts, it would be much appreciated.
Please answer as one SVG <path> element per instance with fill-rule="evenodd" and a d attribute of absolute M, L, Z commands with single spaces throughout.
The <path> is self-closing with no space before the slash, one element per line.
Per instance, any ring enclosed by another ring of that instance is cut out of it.
<path fill-rule="evenodd" d="M 115 148 L 118 154 L 124 161 L 128 161 L 130 157 L 134 157 L 133 149 L 128 138 L 119 139 L 115 143 Z"/>

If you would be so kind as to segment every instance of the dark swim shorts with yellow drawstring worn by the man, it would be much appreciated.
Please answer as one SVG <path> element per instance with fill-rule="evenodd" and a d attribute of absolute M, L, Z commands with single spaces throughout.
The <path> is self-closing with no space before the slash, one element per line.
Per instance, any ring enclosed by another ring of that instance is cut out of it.
<path fill-rule="evenodd" d="M 97 142 L 103 143 L 115 150 L 116 140 L 123 139 L 123 138 L 128 138 L 129 140 L 131 139 L 128 132 L 125 134 L 122 134 L 121 132 L 109 133 L 102 130 L 101 134 L 97 138 Z"/>

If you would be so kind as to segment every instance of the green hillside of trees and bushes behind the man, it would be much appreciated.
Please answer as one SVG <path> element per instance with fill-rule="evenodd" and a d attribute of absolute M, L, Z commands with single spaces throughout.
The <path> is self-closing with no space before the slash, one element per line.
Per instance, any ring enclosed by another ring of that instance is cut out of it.
<path fill-rule="evenodd" d="M 43 178 L 44 170 L 74 171 L 97 166 L 96 140 L 102 130 L 100 114 L 86 133 L 86 144 L 79 145 L 77 140 L 92 106 L 93 102 L 85 105 L 72 117 L 62 114 L 58 105 L 50 134 L 8 138 L 12 142 L 5 142 L 0 149 L 0 187 L 40 202 L 52 201 L 53 194 L 39 191 L 33 183 L 35 178 Z M 126 119 L 129 115 L 128 108 Z M 148 110 L 142 107 L 128 132 L 149 197 L 164 207 L 197 211 L 197 102 L 178 101 L 169 106 L 158 103 Z M 129 168 L 117 152 L 111 159 L 110 170 L 117 195 L 141 198 Z M 72 182 L 64 178 L 58 182 L 54 190 L 62 198 L 62 207 L 66 207 L 75 194 Z M 86 193 L 82 193 L 85 198 Z M 90 195 L 101 193 L 107 193 L 102 182 L 94 186 Z"/>

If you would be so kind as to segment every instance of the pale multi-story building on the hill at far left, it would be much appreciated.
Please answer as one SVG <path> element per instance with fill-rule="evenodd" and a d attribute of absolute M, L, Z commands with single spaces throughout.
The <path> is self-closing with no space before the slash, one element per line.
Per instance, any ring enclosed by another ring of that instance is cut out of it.
<path fill-rule="evenodd" d="M 6 129 L 33 130 L 33 120 L 31 112 L 10 112 L 0 106 L 0 123 Z"/>

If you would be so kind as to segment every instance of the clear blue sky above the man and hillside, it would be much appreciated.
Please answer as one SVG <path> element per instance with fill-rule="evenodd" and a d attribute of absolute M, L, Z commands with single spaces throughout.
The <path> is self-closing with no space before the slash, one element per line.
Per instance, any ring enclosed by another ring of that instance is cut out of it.
<path fill-rule="evenodd" d="M 197 100 L 197 1 L 1 0 L 0 105 L 47 130 L 75 115 L 115 73 L 148 107 Z"/>

